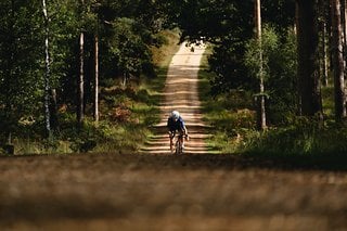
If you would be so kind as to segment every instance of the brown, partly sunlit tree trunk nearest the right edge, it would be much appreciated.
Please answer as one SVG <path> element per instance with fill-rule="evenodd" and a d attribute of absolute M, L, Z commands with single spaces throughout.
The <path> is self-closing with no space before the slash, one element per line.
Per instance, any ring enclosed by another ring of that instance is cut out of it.
<path fill-rule="evenodd" d="M 340 0 L 331 0 L 332 11 L 332 52 L 335 88 L 335 117 L 340 121 L 346 117 L 344 56 L 343 56 L 343 28 L 340 21 Z"/>

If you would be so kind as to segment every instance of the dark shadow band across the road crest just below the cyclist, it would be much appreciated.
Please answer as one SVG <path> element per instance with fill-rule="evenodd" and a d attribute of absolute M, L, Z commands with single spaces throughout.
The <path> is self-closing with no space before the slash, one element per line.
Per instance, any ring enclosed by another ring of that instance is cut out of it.
<path fill-rule="evenodd" d="M 70 165 L 72 163 L 72 165 Z M 88 166 L 89 169 L 103 166 L 103 170 L 113 168 L 133 169 L 151 168 L 175 168 L 175 169 L 249 169 L 260 168 L 269 170 L 288 170 L 288 171 L 347 171 L 347 154 L 307 154 L 307 155 L 269 155 L 269 154 L 146 154 L 129 153 L 80 153 L 63 155 L 21 155 L 0 157 L 0 167 L 17 165 L 24 168 L 35 169 L 38 166 L 66 166 L 79 168 Z M 7 167 L 9 168 L 9 167 Z M 4 169 L 7 169 L 4 168 Z"/>

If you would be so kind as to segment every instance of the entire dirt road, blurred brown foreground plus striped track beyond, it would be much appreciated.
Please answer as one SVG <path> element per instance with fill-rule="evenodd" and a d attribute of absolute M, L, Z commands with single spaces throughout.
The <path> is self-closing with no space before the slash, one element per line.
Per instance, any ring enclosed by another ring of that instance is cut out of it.
<path fill-rule="evenodd" d="M 167 139 L 158 133 L 142 154 L 0 157 L 0 230 L 347 230 L 342 163 L 337 171 L 206 154 L 198 99 L 187 99 L 195 84 L 177 87 L 177 76 L 196 82 L 191 70 L 197 72 L 198 52 L 184 50 L 189 64 L 172 65 L 169 76 L 176 78 L 167 87 L 181 95 L 175 108 L 190 126 L 187 155 L 168 154 Z M 168 89 L 163 115 L 174 108 Z M 165 128 L 163 119 L 158 130 Z"/>

